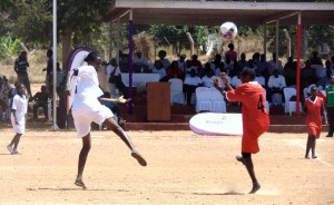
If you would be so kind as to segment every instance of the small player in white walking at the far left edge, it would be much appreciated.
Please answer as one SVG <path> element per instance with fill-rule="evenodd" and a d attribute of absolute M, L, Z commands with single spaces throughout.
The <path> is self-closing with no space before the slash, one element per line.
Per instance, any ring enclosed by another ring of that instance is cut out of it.
<path fill-rule="evenodd" d="M 28 101 L 26 98 L 26 86 L 22 82 L 17 84 L 18 94 L 12 99 L 11 105 L 11 125 L 13 130 L 16 131 L 14 137 L 11 143 L 7 146 L 7 149 L 10 154 L 17 155 L 20 154 L 18 152 L 18 145 L 20 143 L 21 136 L 26 130 L 26 117 Z"/>

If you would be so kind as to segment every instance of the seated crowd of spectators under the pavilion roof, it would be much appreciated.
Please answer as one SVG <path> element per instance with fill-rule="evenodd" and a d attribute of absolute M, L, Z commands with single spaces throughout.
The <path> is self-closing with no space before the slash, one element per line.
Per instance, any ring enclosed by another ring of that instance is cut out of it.
<path fill-rule="evenodd" d="M 283 89 L 286 87 L 296 88 L 296 67 L 297 62 L 292 57 L 283 66 L 276 55 L 267 61 L 264 53 L 255 52 L 252 59 L 246 59 L 242 53 L 239 59 L 234 51 L 234 45 L 228 45 L 229 50 L 222 55 L 216 55 L 212 61 L 202 64 L 197 55 L 186 59 L 186 55 L 180 55 L 178 60 L 169 61 L 166 58 L 166 51 L 158 52 L 159 59 L 150 64 L 143 57 L 143 53 L 136 52 L 134 58 L 134 72 L 154 72 L 160 76 L 160 81 L 168 81 L 171 78 L 179 78 L 184 82 L 184 92 L 186 104 L 190 105 L 191 95 L 197 87 L 213 87 L 212 77 L 220 76 L 222 72 L 228 75 L 228 81 L 236 88 L 242 81 L 238 77 L 245 68 L 252 68 L 256 72 L 256 81 L 266 90 L 266 99 L 271 106 L 284 105 L 285 100 Z M 140 69 L 139 69 L 140 68 Z M 334 56 L 323 65 L 317 52 L 304 62 L 301 69 L 301 99 L 307 97 L 308 88 L 316 86 L 318 90 L 324 90 L 331 81 L 331 75 L 334 74 Z M 277 98 L 278 96 L 278 98 Z M 281 99 L 279 99 L 281 98 Z"/>

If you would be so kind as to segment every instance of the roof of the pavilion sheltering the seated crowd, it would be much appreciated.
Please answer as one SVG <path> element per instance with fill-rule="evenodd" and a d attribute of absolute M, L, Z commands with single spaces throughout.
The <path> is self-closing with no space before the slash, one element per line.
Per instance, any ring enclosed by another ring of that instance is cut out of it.
<path fill-rule="evenodd" d="M 296 0 L 291 0 L 296 1 Z M 334 26 L 334 2 L 249 2 L 224 0 L 115 0 L 104 21 L 115 21 L 132 9 L 136 25 L 218 26 L 225 21 L 258 26 L 279 20 L 279 25 Z M 121 18 L 127 22 L 128 18 Z"/>

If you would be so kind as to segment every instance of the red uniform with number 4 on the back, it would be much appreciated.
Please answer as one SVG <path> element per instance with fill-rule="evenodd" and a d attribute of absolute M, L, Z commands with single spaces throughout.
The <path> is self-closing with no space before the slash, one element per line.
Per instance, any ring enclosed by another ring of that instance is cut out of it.
<path fill-rule="evenodd" d="M 257 138 L 269 127 L 269 116 L 265 107 L 263 87 L 256 81 L 242 84 L 226 94 L 229 101 L 243 104 L 243 143 L 242 152 L 257 153 L 259 150 Z"/>

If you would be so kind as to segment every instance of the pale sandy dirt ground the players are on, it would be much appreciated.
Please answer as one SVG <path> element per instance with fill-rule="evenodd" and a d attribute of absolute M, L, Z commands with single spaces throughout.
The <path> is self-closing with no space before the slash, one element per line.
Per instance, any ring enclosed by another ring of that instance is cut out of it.
<path fill-rule="evenodd" d="M 317 159 L 304 159 L 305 134 L 265 134 L 254 155 L 262 188 L 235 160 L 240 137 L 191 131 L 129 131 L 146 157 L 141 167 L 111 131 L 92 131 L 84 180 L 73 182 L 81 140 L 75 130 L 29 129 L 19 150 L 0 129 L 0 204 L 334 204 L 334 139 L 317 140 Z"/>

